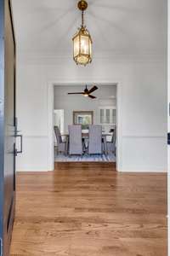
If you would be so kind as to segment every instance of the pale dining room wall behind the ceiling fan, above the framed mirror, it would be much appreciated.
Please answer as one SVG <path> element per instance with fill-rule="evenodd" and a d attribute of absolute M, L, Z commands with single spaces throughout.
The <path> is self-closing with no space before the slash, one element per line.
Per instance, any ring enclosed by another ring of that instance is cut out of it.
<path fill-rule="evenodd" d="M 65 109 L 65 131 L 68 131 L 68 125 L 72 124 L 73 111 L 94 111 L 94 124 L 99 124 L 99 107 L 116 107 L 116 85 L 97 85 L 99 89 L 93 93 L 97 97 L 94 100 L 67 94 L 83 91 L 85 85 L 54 86 L 54 109 Z M 92 86 L 88 86 L 88 89 L 90 87 Z"/>

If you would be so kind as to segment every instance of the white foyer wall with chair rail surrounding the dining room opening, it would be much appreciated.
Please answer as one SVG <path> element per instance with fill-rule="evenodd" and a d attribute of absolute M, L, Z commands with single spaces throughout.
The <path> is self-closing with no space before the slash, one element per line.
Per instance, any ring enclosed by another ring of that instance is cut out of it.
<path fill-rule="evenodd" d="M 167 170 L 166 61 L 159 56 L 96 57 L 77 67 L 70 57 L 20 56 L 17 61 L 17 115 L 24 135 L 22 171 L 49 170 L 48 86 L 50 81 L 120 82 L 122 162 L 120 171 Z"/>

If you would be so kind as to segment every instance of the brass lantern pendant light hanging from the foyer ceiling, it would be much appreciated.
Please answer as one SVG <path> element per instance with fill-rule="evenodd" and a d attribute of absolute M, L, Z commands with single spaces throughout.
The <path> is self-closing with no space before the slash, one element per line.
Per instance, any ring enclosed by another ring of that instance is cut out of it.
<path fill-rule="evenodd" d="M 77 65 L 86 66 L 92 62 L 92 38 L 86 26 L 84 26 L 84 11 L 88 8 L 86 1 L 79 1 L 77 4 L 78 9 L 82 11 L 82 25 L 78 29 L 73 40 L 73 59 Z"/>

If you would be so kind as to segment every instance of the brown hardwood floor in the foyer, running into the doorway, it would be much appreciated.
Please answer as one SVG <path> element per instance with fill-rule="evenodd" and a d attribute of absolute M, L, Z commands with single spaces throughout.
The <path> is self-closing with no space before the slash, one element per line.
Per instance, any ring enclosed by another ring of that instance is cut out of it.
<path fill-rule="evenodd" d="M 17 176 L 11 256 L 167 256 L 167 175 L 60 163 Z"/>

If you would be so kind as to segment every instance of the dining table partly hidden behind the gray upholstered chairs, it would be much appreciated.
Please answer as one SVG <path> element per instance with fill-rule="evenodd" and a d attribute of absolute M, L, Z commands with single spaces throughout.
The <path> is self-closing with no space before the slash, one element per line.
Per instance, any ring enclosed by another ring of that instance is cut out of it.
<path fill-rule="evenodd" d="M 104 153 L 107 154 L 107 137 L 111 137 L 112 133 L 108 132 L 102 132 L 102 140 L 104 143 Z M 61 133 L 62 137 L 65 137 L 65 143 L 66 143 L 66 152 L 68 153 L 69 150 L 69 133 Z M 88 132 L 82 132 L 82 139 L 88 139 L 89 133 Z"/>

